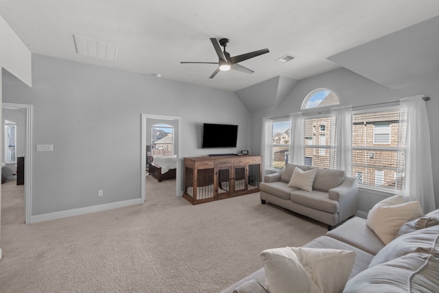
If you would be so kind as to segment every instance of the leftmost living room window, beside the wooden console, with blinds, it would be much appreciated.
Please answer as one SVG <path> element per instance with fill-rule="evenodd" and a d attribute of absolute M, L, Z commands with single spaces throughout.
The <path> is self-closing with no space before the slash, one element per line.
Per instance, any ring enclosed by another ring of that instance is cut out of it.
<path fill-rule="evenodd" d="M 272 168 L 281 169 L 289 161 L 289 119 L 271 121 L 271 163 Z"/>

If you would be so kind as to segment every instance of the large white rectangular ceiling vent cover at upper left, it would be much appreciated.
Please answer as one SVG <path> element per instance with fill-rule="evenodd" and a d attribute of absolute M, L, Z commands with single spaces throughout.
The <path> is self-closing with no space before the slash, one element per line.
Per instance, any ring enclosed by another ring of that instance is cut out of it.
<path fill-rule="evenodd" d="M 91 56 L 99 59 L 114 61 L 116 60 L 118 46 L 110 45 L 92 40 L 91 38 L 84 38 L 83 36 L 73 35 L 75 38 L 76 52 L 86 56 Z"/>

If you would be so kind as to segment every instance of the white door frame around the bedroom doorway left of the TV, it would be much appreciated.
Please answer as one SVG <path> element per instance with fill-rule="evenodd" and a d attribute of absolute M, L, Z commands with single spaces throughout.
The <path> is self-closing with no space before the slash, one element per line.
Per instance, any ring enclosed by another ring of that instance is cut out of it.
<path fill-rule="evenodd" d="M 177 120 L 178 121 L 178 148 L 176 152 L 177 157 L 177 169 L 176 169 L 176 196 L 182 196 L 181 192 L 181 117 L 176 116 L 165 116 L 165 115 L 152 115 L 152 114 L 141 114 L 141 200 L 145 202 L 145 185 L 146 185 L 146 145 L 147 145 L 147 137 L 146 137 L 146 121 L 147 119 L 161 119 L 161 120 Z"/>

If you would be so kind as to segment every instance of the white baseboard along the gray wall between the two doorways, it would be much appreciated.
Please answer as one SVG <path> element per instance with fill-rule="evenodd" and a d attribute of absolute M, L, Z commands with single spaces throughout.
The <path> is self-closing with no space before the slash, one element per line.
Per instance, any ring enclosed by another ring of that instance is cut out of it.
<path fill-rule="evenodd" d="M 129 207 L 134 204 L 143 204 L 141 198 L 134 200 L 123 200 L 121 202 L 111 202 L 108 204 L 99 204 L 92 207 L 82 207 L 79 209 L 68 209 L 66 211 L 56 211 L 54 213 L 43 213 L 42 215 L 32 215 L 31 223 L 45 222 L 49 220 L 56 220 L 60 218 L 72 217 L 73 215 L 84 215 L 86 213 L 95 213 L 97 211 L 107 211 L 109 209 L 117 209 L 119 207 Z M 0 250 L 1 253 L 1 250 Z"/>

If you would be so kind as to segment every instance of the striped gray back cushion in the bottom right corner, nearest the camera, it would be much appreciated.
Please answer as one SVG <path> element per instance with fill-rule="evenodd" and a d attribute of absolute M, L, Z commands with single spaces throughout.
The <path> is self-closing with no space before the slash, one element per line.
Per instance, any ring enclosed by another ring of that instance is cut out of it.
<path fill-rule="evenodd" d="M 438 271 L 438 258 L 410 253 L 360 272 L 343 292 L 438 292 Z"/>

